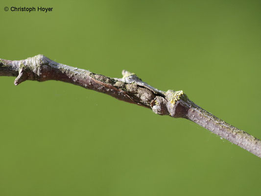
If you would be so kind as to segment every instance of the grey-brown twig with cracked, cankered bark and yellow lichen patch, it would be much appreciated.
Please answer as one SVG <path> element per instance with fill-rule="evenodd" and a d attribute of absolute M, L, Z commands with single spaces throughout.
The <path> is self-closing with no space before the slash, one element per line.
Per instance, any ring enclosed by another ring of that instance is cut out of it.
<path fill-rule="evenodd" d="M 143 82 L 134 73 L 123 70 L 122 75 L 122 78 L 107 77 L 56 63 L 41 54 L 19 61 L 0 59 L 0 76 L 17 76 L 15 85 L 25 80 L 69 82 L 142 105 L 156 114 L 188 119 L 261 157 L 259 139 L 205 111 L 193 103 L 183 91 L 160 91 Z"/>

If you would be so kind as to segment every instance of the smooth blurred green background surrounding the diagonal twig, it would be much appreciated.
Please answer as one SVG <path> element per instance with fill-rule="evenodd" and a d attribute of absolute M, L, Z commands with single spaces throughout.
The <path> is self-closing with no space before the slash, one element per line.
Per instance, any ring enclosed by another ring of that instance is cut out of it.
<path fill-rule="evenodd" d="M 0 23 L 0 58 L 41 53 L 111 77 L 126 69 L 261 138 L 260 0 L 1 0 Z M 261 193 L 261 159 L 195 123 L 14 79 L 0 77 L 0 196 Z"/>

